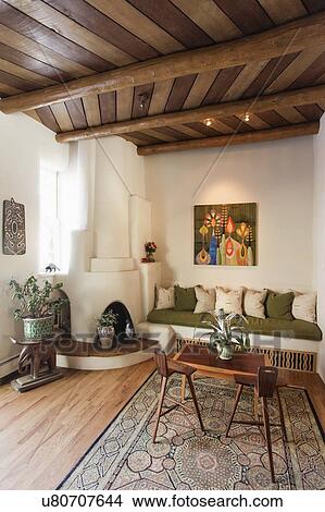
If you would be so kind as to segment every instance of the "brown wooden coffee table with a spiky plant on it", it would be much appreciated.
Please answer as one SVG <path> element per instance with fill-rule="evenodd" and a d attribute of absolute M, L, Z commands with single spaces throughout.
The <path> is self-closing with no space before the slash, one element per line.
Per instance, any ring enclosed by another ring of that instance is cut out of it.
<path fill-rule="evenodd" d="M 259 366 L 270 365 L 266 354 L 235 352 L 230 361 L 212 354 L 208 346 L 186 343 L 174 356 L 175 361 L 192 366 L 200 375 L 214 378 L 230 378 L 235 375 L 258 375 Z M 182 400 L 185 400 L 186 379 L 182 378 Z"/>

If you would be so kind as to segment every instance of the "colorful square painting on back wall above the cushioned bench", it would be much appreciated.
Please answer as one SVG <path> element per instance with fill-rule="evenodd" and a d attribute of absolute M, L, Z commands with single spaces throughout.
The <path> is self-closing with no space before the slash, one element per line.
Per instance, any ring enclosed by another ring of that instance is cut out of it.
<path fill-rule="evenodd" d="M 195 206 L 195 265 L 257 265 L 257 203 Z"/>

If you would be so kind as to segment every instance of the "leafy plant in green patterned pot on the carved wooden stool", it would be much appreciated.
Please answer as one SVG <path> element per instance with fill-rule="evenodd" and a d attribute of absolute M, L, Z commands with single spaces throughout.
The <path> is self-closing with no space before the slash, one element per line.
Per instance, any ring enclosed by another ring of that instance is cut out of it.
<path fill-rule="evenodd" d="M 39 285 L 34 276 L 23 284 L 15 279 L 10 281 L 12 300 L 20 306 L 13 312 L 13 317 L 15 320 L 23 320 L 26 340 L 42 340 L 53 333 L 54 315 L 67 300 L 51 297 L 53 291 L 62 287 L 62 282 L 51 284 L 47 280 Z"/>

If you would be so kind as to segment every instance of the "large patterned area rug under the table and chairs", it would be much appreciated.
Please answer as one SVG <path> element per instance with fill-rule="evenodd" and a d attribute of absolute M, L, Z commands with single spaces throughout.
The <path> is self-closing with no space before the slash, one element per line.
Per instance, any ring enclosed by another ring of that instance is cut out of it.
<path fill-rule="evenodd" d="M 180 381 L 167 393 L 179 397 Z M 153 374 L 63 480 L 61 489 L 324 489 L 324 442 L 305 391 L 280 389 L 288 442 L 272 427 L 276 484 L 271 483 L 264 437 L 259 427 L 226 425 L 235 385 L 196 379 L 207 432 L 195 414 L 177 407 L 162 417 L 152 443 L 160 378 Z M 193 410 L 192 402 L 188 405 Z M 252 392 L 241 395 L 237 418 L 252 419 Z M 270 403 L 278 423 L 276 400 Z"/>

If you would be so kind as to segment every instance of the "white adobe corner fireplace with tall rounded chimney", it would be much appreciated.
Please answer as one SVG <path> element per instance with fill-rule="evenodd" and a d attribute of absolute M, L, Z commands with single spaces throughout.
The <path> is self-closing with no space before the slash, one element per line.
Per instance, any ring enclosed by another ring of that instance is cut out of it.
<path fill-rule="evenodd" d="M 93 319 L 113 301 L 126 305 L 135 326 L 152 307 L 161 268 L 139 264 L 143 244 L 151 240 L 151 204 L 145 194 L 143 161 L 133 145 L 117 137 L 71 145 L 62 197 L 64 215 L 72 216 L 75 225 L 66 241 L 67 273 L 58 279 L 63 279 L 71 301 L 72 334 L 77 339 L 93 342 Z M 90 369 L 91 357 L 83 359 L 88 362 L 59 356 L 58 364 L 87 364 Z"/>

